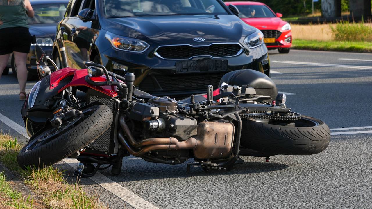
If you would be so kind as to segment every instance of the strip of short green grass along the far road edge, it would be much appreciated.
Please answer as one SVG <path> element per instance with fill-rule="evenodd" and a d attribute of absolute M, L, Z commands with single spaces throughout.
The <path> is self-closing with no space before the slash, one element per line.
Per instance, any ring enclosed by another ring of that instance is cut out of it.
<path fill-rule="evenodd" d="M 322 51 L 372 52 L 372 42 L 353 41 L 315 41 L 294 39 L 293 49 L 310 49 Z"/>

